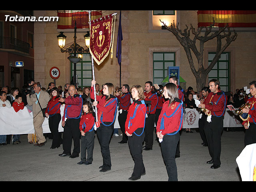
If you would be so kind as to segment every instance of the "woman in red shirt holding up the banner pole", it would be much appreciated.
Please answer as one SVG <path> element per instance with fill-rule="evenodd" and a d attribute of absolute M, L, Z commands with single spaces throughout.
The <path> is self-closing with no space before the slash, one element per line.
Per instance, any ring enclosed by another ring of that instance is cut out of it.
<path fill-rule="evenodd" d="M 90 89 L 90 96 L 94 100 L 94 84 L 92 80 L 92 88 Z M 103 165 L 100 166 L 100 172 L 111 170 L 111 158 L 109 143 L 114 131 L 114 120 L 117 111 L 117 98 L 114 96 L 114 85 L 112 83 L 105 83 L 103 85 L 103 96 L 96 96 L 96 102 L 93 106 L 98 110 L 97 136 L 100 142 L 101 154 L 103 157 Z"/>

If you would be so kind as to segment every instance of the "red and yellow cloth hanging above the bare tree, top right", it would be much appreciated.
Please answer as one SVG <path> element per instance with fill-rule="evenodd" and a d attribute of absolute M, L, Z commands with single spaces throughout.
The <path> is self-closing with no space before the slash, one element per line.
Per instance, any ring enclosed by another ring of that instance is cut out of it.
<path fill-rule="evenodd" d="M 253 10 L 199 10 L 198 27 L 256 27 L 256 11 Z"/>

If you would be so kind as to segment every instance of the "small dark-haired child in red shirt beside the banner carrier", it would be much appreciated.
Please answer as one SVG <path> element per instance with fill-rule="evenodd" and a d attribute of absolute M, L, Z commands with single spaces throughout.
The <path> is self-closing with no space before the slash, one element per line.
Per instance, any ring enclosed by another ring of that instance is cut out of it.
<path fill-rule="evenodd" d="M 92 164 L 92 154 L 94 148 L 94 116 L 90 102 L 83 103 L 83 113 L 80 119 L 79 129 L 81 132 L 81 161 L 77 164 Z M 87 150 L 87 160 L 86 160 Z"/>

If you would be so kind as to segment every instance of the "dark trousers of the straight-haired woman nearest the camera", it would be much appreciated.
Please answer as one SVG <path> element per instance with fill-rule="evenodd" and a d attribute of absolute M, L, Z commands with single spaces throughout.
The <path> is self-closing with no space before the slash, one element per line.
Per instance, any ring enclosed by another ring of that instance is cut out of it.
<path fill-rule="evenodd" d="M 161 151 L 166 166 L 168 181 L 178 181 L 177 166 L 175 161 L 175 154 L 180 134 L 164 135 L 161 144 Z"/>

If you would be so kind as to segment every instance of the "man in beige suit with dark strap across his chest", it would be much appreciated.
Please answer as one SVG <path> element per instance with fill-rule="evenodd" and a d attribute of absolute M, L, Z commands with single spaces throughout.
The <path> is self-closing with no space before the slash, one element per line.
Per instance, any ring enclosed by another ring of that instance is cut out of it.
<path fill-rule="evenodd" d="M 50 100 L 50 95 L 48 92 L 42 90 L 42 86 L 40 82 L 37 82 L 33 85 L 34 92 L 30 92 L 27 94 L 27 102 L 28 105 L 32 105 L 33 109 L 33 125 L 36 134 L 36 140 L 38 143 L 34 144 L 34 146 L 44 146 L 46 143 L 46 138 L 43 134 L 42 124 L 45 118 L 44 108 L 47 107 L 48 101 Z"/>

